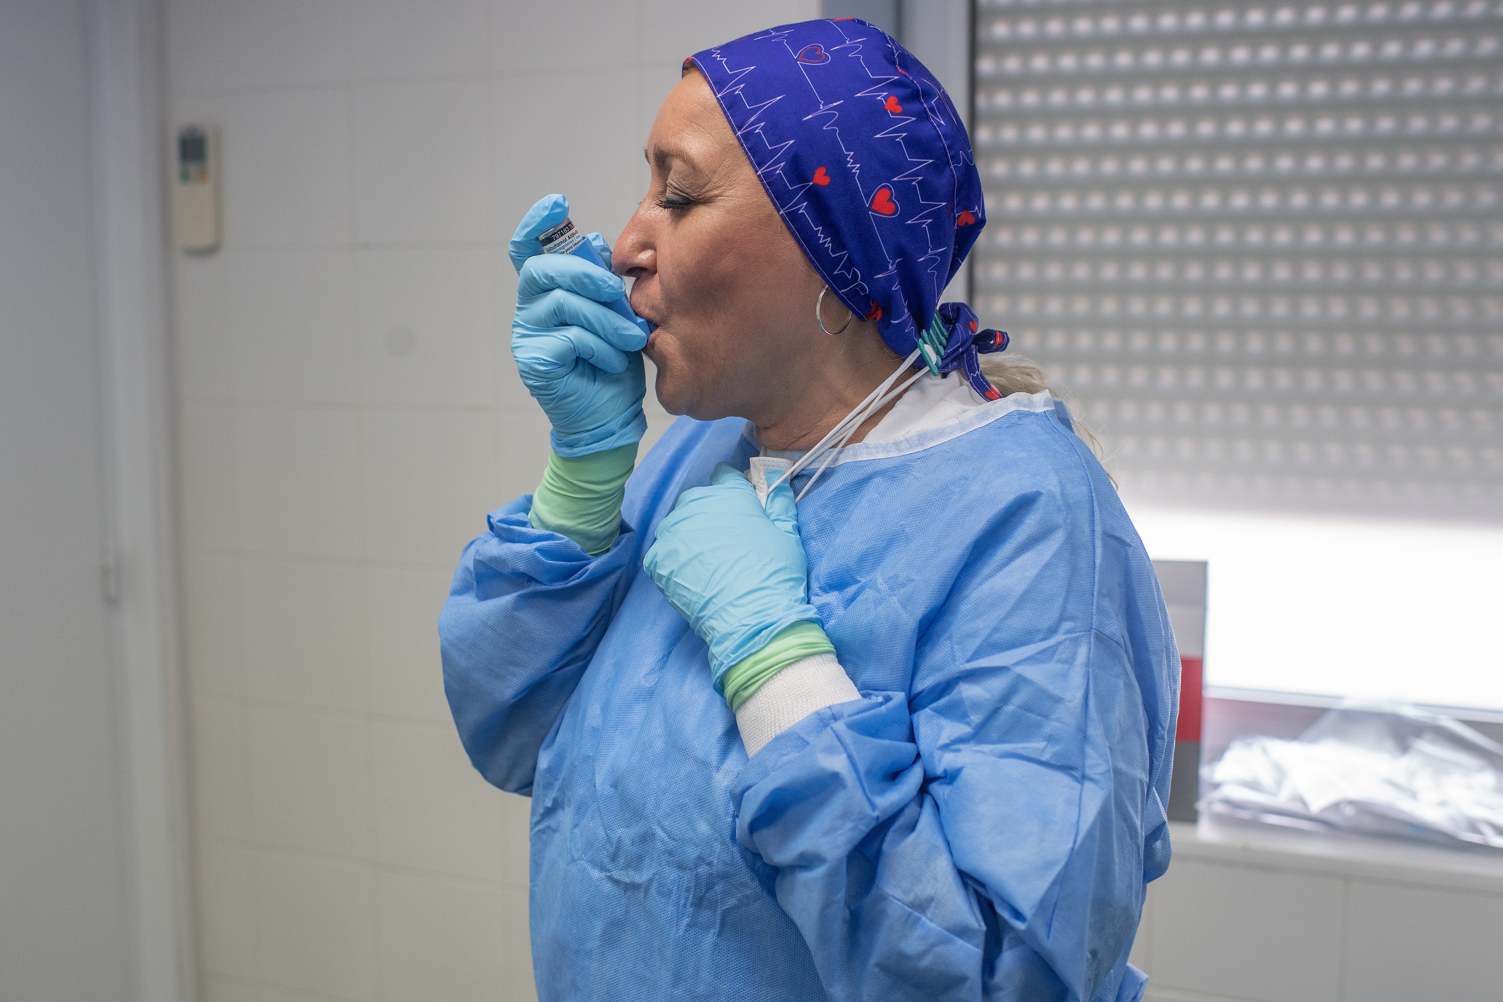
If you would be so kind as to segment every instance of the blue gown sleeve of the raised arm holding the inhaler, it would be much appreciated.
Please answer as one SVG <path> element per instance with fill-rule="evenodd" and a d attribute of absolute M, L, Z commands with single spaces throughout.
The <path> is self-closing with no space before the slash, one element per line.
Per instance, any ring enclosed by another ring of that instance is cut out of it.
<path fill-rule="evenodd" d="M 621 607 L 640 563 L 637 533 L 591 557 L 534 529 L 526 494 L 490 514 L 460 557 L 439 614 L 443 691 L 470 762 L 491 784 L 531 793 L 538 748 Z"/>

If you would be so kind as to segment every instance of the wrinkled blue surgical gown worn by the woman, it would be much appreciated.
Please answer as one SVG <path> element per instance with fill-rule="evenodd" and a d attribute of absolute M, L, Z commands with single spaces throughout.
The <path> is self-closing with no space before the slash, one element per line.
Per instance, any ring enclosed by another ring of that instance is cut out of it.
<path fill-rule="evenodd" d="M 642 571 L 744 422 L 676 421 L 591 557 L 490 515 L 439 620 L 481 774 L 531 793 L 538 996 L 1118 999 L 1168 867 L 1178 655 L 1105 472 L 1046 394 L 852 446 L 798 505 L 861 699 L 752 760 Z"/>

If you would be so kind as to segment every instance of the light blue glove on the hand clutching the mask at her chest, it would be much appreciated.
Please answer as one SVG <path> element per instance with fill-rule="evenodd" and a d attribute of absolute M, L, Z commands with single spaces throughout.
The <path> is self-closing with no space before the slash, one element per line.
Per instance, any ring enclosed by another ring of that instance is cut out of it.
<path fill-rule="evenodd" d="M 717 693 L 732 665 L 788 626 L 824 625 L 809 604 L 809 562 L 786 481 L 768 494 L 764 511 L 747 478 L 720 463 L 709 487 L 679 494 L 642 565 L 709 644 Z"/>

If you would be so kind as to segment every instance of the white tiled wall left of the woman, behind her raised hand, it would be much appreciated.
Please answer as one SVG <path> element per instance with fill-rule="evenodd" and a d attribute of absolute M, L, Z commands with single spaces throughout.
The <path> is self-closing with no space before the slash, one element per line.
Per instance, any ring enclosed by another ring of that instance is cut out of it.
<path fill-rule="evenodd" d="M 547 451 L 505 240 L 550 191 L 615 239 L 679 60 L 818 3 L 168 8 L 174 125 L 224 149 L 224 246 L 173 276 L 204 997 L 529 999 L 528 801 L 434 629 Z"/>

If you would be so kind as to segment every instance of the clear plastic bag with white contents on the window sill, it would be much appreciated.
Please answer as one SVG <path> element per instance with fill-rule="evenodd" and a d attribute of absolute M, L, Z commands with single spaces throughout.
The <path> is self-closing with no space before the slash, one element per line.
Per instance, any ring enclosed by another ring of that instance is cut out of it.
<path fill-rule="evenodd" d="M 1240 738 L 1201 810 L 1315 831 L 1503 849 L 1503 745 L 1399 703 L 1345 703 L 1294 741 Z"/>

